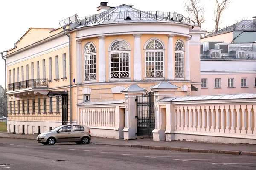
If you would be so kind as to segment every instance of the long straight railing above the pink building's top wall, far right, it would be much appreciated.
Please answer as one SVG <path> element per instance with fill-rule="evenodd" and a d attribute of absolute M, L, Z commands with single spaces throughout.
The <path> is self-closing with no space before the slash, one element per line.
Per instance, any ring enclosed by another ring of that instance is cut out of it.
<path fill-rule="evenodd" d="M 212 59 L 250 59 L 256 60 L 256 54 L 200 54 L 201 60 L 212 60 Z"/>

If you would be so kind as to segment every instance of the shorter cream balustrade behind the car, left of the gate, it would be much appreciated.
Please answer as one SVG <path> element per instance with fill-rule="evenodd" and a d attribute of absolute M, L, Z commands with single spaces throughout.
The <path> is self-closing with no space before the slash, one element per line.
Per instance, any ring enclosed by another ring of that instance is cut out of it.
<path fill-rule="evenodd" d="M 95 127 L 115 127 L 116 107 L 111 108 L 80 108 L 79 123 Z"/>

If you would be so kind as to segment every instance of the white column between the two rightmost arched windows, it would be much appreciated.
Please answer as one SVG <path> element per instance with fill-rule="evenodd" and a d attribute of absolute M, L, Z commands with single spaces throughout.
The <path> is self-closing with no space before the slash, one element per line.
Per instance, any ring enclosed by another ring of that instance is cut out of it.
<path fill-rule="evenodd" d="M 174 79 L 173 37 L 168 35 L 167 79 Z"/>

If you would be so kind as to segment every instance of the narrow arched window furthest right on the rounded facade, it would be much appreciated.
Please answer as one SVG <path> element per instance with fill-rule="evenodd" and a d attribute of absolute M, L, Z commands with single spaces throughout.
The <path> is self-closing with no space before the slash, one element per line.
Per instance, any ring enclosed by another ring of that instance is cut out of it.
<path fill-rule="evenodd" d="M 175 45 L 175 77 L 184 78 L 184 45 L 178 41 Z"/>

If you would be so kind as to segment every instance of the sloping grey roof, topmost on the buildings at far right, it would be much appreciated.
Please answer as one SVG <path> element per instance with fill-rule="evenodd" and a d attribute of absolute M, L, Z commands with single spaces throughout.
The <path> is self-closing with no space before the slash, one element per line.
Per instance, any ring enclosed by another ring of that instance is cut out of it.
<path fill-rule="evenodd" d="M 256 31 L 256 24 L 253 23 L 253 20 L 240 21 L 240 22 L 238 22 L 236 24 L 233 24 L 231 26 L 220 28 L 218 31 L 214 31 L 214 30 L 209 31 L 207 33 L 207 36 L 202 37 L 202 39 L 207 38 L 207 37 L 212 37 L 212 36 L 215 36 L 215 35 L 219 35 L 219 34 L 232 32 L 232 31 Z"/>

